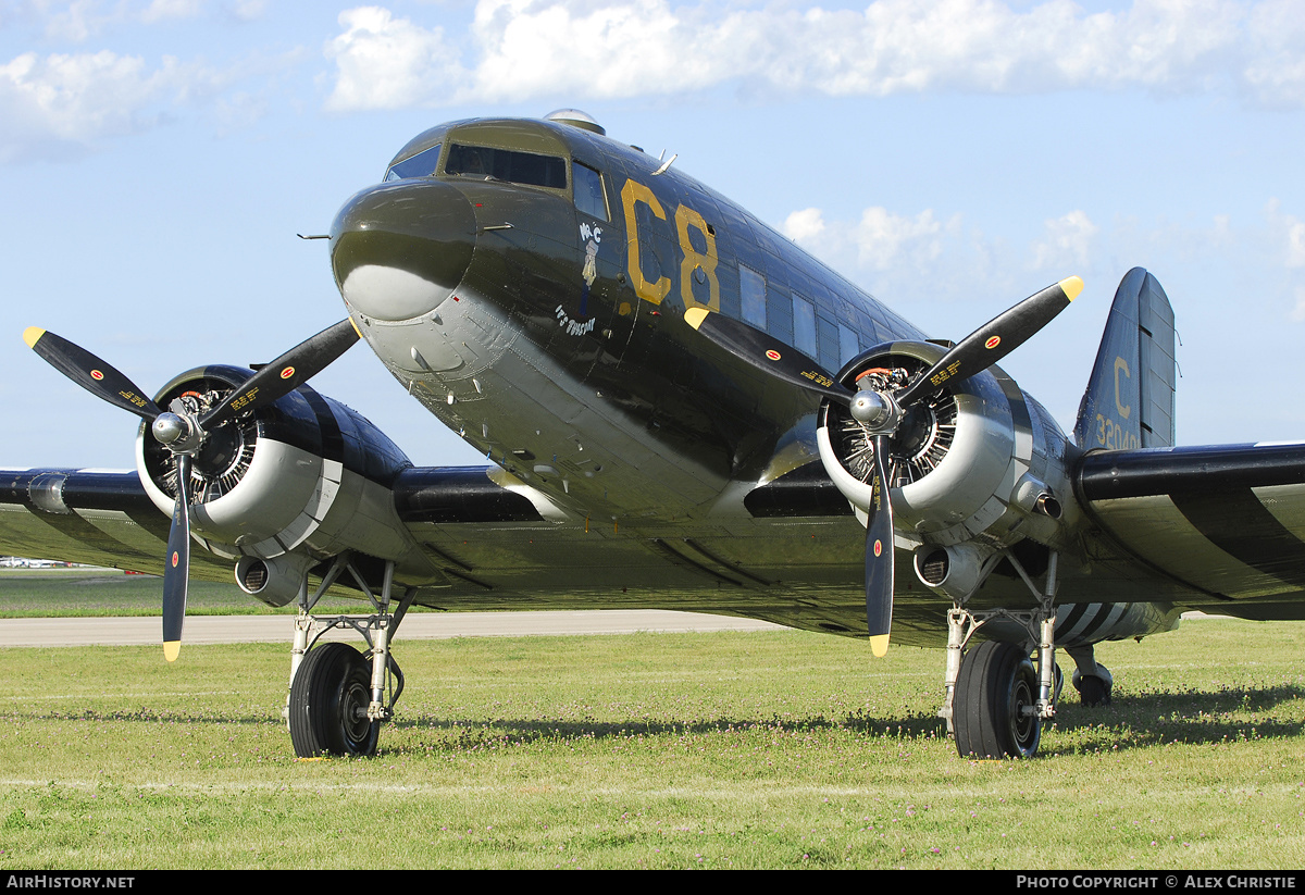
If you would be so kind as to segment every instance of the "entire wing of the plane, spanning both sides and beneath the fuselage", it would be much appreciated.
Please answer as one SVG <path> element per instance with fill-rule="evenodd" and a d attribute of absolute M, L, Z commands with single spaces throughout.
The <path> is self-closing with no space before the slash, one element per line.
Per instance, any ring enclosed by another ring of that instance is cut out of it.
<path fill-rule="evenodd" d="M 728 522 L 641 531 L 562 514 L 496 467 L 408 468 L 390 488 L 398 519 L 444 578 L 423 587 L 425 605 L 655 604 L 860 628 L 863 530 L 818 464 L 754 489 Z M 1081 461 L 1077 488 L 1099 544 L 1088 574 L 1066 570 L 1064 600 L 1305 614 L 1305 444 L 1098 451 Z M 167 535 L 134 471 L 0 471 L 3 552 L 158 573 Z M 231 581 L 231 566 L 194 552 L 197 577 Z M 937 600 L 914 592 L 906 571 L 906 642 L 932 642 Z"/>

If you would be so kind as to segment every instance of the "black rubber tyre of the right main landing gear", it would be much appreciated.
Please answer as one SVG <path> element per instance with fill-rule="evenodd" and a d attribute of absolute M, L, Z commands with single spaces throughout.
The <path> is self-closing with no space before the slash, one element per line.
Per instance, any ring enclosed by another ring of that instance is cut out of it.
<path fill-rule="evenodd" d="M 987 641 L 960 661 L 953 695 L 957 750 L 963 758 L 1032 758 L 1043 720 L 1026 712 L 1037 703 L 1037 673 L 1028 654 Z"/>

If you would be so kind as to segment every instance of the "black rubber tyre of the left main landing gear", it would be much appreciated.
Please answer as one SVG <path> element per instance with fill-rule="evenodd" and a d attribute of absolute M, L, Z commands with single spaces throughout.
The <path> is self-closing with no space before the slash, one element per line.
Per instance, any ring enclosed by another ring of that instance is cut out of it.
<path fill-rule="evenodd" d="M 372 669 L 345 643 L 311 650 L 290 686 L 290 741 L 300 758 L 375 755 L 381 723 L 367 718 Z"/>

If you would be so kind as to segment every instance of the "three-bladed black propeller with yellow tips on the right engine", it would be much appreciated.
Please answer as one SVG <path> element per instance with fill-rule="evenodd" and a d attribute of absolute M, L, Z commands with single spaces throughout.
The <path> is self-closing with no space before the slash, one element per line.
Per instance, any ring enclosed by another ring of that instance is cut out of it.
<path fill-rule="evenodd" d="M 1027 342 L 1083 290 L 1069 277 L 1031 295 L 958 342 L 933 367 L 899 391 L 852 391 L 818 363 L 743 321 L 690 308 L 684 320 L 735 357 L 775 378 L 837 401 L 870 436 L 874 453 L 872 500 L 865 519 L 865 622 L 876 656 L 887 652 L 893 625 L 893 501 L 889 498 L 887 455 L 898 428 L 910 411 L 944 387 L 981 373 Z M 872 381 L 872 380 L 865 380 Z"/>

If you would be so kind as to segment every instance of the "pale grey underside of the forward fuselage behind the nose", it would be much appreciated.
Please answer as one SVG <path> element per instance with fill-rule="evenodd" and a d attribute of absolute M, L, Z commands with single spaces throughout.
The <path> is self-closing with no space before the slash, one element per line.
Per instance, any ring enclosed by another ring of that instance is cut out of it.
<path fill-rule="evenodd" d="M 586 515 L 683 514 L 726 481 L 672 455 L 463 283 L 433 312 L 364 335 L 445 425 L 522 481 Z"/>

